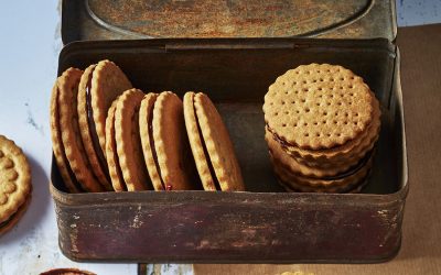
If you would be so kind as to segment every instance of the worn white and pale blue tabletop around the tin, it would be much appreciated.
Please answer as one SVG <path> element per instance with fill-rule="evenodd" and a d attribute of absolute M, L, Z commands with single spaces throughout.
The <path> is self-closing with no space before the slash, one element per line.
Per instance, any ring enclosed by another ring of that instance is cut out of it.
<path fill-rule="evenodd" d="M 399 25 L 441 22 L 441 1 L 397 1 Z M 49 194 L 49 101 L 60 40 L 57 0 L 2 1 L 0 6 L 0 134 L 19 144 L 32 165 L 33 198 L 19 224 L 0 239 L 0 275 L 78 267 L 97 274 L 137 274 L 136 264 L 79 264 L 57 245 Z M 191 265 L 162 265 L 163 274 L 191 273 Z M 150 266 L 153 271 L 153 266 Z"/>

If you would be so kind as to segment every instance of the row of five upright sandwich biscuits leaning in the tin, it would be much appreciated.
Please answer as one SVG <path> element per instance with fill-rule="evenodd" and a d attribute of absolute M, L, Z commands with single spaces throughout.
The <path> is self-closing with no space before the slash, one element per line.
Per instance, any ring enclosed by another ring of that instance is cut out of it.
<path fill-rule="evenodd" d="M 110 61 L 57 78 L 51 131 L 69 193 L 245 190 L 228 131 L 205 94 L 186 92 L 183 101 L 171 91 L 144 94 Z"/>

